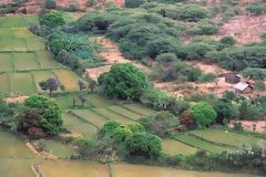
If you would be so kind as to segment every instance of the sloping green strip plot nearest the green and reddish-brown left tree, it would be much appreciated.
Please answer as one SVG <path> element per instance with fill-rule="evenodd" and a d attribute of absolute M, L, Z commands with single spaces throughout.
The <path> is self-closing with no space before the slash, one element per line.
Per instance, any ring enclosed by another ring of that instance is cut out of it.
<path fill-rule="evenodd" d="M 83 134 L 88 137 L 93 137 L 96 134 L 96 128 L 92 126 L 91 124 L 86 124 L 79 118 L 68 114 L 63 113 L 63 127 L 69 129 L 72 133 Z"/>

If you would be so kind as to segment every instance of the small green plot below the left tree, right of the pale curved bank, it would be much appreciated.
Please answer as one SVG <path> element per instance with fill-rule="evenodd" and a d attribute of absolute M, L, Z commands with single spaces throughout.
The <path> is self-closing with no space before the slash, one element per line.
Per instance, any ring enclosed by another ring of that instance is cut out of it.
<path fill-rule="evenodd" d="M 70 158 L 74 153 L 74 148 L 70 145 L 63 145 L 60 142 L 54 142 L 52 139 L 40 139 L 35 140 L 35 143 L 43 145 L 43 150 L 47 153 L 51 153 L 60 158 Z"/>

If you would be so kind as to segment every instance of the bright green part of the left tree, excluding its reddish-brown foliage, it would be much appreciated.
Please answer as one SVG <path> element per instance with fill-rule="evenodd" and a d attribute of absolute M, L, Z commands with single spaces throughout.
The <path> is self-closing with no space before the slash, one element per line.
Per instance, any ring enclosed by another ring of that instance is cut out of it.
<path fill-rule="evenodd" d="M 52 135 L 59 134 L 63 119 L 61 117 L 61 110 L 54 100 L 42 96 L 31 95 L 25 100 L 24 106 L 35 108 L 41 117 L 39 128 Z"/>

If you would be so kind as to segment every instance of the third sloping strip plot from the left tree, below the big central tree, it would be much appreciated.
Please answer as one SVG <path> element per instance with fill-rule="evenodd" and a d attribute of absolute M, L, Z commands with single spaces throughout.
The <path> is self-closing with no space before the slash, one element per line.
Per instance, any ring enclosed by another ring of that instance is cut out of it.
<path fill-rule="evenodd" d="M 93 110 L 94 110 L 96 113 L 103 115 L 104 117 L 106 117 L 106 118 L 109 118 L 109 119 L 116 121 L 116 122 L 119 122 L 119 123 L 121 123 L 121 124 L 127 125 L 127 124 L 130 124 L 130 123 L 133 123 L 132 119 L 129 119 L 129 118 L 123 117 L 123 116 L 121 116 L 121 115 L 117 115 L 117 114 L 115 114 L 115 113 L 113 113 L 113 112 L 110 112 L 110 111 L 106 110 L 106 108 L 93 108 Z"/>

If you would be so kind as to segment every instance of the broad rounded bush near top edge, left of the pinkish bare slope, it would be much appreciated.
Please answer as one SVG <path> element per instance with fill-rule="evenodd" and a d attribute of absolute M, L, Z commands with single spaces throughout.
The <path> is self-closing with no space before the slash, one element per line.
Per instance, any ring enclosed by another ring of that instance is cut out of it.
<path fill-rule="evenodd" d="M 178 11 L 178 19 L 188 22 L 197 22 L 208 17 L 208 12 L 197 6 L 188 6 Z"/>

